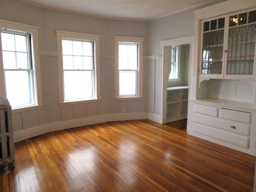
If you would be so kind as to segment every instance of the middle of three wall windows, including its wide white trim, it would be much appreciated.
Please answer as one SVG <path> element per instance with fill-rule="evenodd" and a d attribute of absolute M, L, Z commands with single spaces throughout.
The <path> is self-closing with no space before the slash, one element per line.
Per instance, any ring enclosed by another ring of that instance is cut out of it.
<path fill-rule="evenodd" d="M 99 36 L 63 31 L 56 32 L 61 103 L 98 99 Z"/>

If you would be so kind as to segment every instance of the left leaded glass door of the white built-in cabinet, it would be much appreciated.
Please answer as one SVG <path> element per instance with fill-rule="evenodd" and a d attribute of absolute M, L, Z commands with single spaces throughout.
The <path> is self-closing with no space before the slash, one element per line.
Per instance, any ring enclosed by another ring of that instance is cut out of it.
<path fill-rule="evenodd" d="M 202 23 L 202 65 L 200 76 L 223 76 L 224 28 L 224 16 L 205 20 Z"/>

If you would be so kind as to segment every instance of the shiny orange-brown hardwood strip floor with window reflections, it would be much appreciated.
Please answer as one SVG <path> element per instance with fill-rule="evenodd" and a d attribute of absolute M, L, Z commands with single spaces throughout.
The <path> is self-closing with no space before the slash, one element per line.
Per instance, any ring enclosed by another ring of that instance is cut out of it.
<path fill-rule="evenodd" d="M 50 132 L 16 143 L 15 158 L 0 192 L 246 192 L 256 159 L 188 135 L 184 120 Z"/>

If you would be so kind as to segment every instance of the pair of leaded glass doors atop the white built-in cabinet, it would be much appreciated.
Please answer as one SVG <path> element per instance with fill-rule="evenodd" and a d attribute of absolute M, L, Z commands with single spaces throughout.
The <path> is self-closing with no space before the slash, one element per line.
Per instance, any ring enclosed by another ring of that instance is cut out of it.
<path fill-rule="evenodd" d="M 202 23 L 202 76 L 253 75 L 255 41 L 256 10 L 205 20 Z"/>

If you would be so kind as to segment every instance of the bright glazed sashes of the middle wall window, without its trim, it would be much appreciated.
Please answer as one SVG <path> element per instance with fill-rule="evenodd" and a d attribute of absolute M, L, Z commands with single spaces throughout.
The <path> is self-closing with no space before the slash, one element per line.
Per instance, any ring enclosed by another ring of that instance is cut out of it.
<path fill-rule="evenodd" d="M 64 43 L 71 48 L 64 47 Z M 96 98 L 94 58 L 94 41 L 62 38 L 64 102 Z"/>

